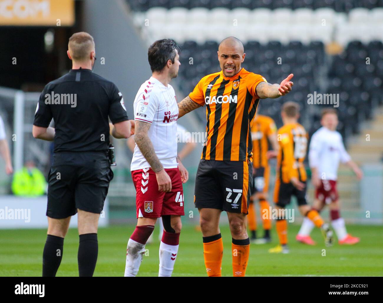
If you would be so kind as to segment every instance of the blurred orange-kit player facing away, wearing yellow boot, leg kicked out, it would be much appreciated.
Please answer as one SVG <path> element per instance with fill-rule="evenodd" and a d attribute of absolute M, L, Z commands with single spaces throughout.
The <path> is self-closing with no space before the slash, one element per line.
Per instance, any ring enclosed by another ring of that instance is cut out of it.
<path fill-rule="evenodd" d="M 302 125 L 298 123 L 299 105 L 286 102 L 282 106 L 283 127 L 278 129 L 278 143 L 280 145 L 277 156 L 277 176 L 274 188 L 275 207 L 278 213 L 276 222 L 279 245 L 269 249 L 271 253 L 288 254 L 287 220 L 283 217 L 283 209 L 290 204 L 291 196 L 295 196 L 298 209 L 302 216 L 308 217 L 314 225 L 321 229 L 326 245 L 332 244 L 332 231 L 329 224 L 325 224 L 318 211 L 310 209 L 306 201 L 306 170 L 303 165 L 307 150 L 308 135 Z M 286 212 L 285 212 L 286 213 Z"/>

